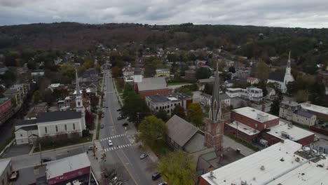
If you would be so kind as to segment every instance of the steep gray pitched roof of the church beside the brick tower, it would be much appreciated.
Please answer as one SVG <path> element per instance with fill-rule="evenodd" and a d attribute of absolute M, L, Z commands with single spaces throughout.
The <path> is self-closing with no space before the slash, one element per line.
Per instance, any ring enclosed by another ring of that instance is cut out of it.
<path fill-rule="evenodd" d="M 198 132 L 198 128 L 177 115 L 172 116 L 166 125 L 168 126 L 168 137 L 179 146 L 184 146 Z"/>

